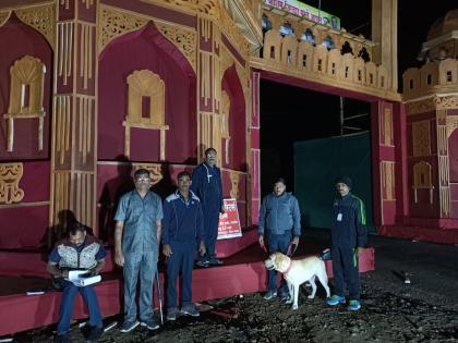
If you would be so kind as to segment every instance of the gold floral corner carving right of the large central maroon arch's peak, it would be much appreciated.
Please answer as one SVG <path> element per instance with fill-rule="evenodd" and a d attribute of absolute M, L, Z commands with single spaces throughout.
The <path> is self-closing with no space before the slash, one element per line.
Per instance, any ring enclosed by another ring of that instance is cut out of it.
<path fill-rule="evenodd" d="M 195 47 L 197 35 L 193 30 L 182 29 L 172 25 L 156 23 L 157 28 L 171 40 L 177 48 L 186 57 L 195 70 Z"/>

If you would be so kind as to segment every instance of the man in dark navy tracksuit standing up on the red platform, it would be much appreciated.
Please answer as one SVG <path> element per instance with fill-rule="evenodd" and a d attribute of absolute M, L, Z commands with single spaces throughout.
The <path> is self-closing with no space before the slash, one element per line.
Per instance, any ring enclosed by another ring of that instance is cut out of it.
<path fill-rule="evenodd" d="M 220 266 L 222 261 L 216 258 L 215 245 L 218 238 L 219 213 L 225 212 L 222 204 L 221 172 L 216 167 L 216 150 L 205 150 L 205 161 L 198 164 L 192 173 L 192 192 L 201 199 L 204 212 L 206 254 L 197 261 L 200 267 Z"/>

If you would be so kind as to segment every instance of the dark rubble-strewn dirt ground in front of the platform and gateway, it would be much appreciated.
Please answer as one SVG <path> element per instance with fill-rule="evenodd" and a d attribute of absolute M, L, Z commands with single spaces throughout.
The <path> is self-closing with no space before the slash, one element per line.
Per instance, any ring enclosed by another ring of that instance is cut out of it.
<path fill-rule="evenodd" d="M 326 240 L 326 231 L 309 236 Z M 106 332 L 99 342 L 458 342 L 458 247 L 371 236 L 376 268 L 361 275 L 362 308 L 324 304 L 324 290 L 299 309 L 279 298 L 243 294 L 205 303 L 200 318 L 179 317 L 158 331 Z M 405 282 L 406 275 L 410 284 Z M 330 281 L 330 285 L 333 282 Z M 209 305 L 209 306 L 207 306 Z M 110 323 L 119 318 L 107 318 Z M 85 342 L 77 324 L 73 342 Z M 16 334 L 15 342 L 52 342 L 52 328 Z"/>

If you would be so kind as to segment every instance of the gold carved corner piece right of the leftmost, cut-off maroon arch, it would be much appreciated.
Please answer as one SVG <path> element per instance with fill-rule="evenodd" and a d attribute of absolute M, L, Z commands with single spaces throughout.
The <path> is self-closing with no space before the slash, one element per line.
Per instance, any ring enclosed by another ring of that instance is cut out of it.
<path fill-rule="evenodd" d="M 14 10 L 14 12 L 22 22 L 44 35 L 55 50 L 56 9 L 53 3 Z"/>

